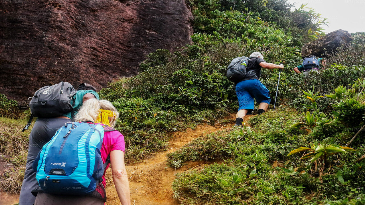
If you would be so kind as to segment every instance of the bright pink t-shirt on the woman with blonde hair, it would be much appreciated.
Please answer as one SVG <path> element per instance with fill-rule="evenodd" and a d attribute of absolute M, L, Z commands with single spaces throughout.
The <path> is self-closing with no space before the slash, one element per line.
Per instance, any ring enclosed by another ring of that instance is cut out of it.
<path fill-rule="evenodd" d="M 101 124 L 103 125 L 103 124 Z M 124 152 L 124 136 L 120 134 L 119 131 L 109 131 L 104 132 L 103 145 L 101 146 L 101 159 L 103 159 L 103 163 L 106 162 L 108 155 L 113 150 L 122 150 Z M 109 168 L 110 164 L 107 166 L 105 170 Z M 103 185 L 105 187 L 105 177 L 103 175 Z"/>

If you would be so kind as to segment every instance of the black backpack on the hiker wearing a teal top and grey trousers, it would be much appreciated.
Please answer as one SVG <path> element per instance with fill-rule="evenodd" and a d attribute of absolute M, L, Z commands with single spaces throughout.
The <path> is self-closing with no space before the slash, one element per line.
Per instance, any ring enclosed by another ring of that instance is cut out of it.
<path fill-rule="evenodd" d="M 73 118 L 74 112 L 71 99 L 75 94 L 76 90 L 68 82 L 44 86 L 37 90 L 29 102 L 31 116 L 22 131 L 28 129 L 33 117 L 58 117 L 71 112 Z"/>

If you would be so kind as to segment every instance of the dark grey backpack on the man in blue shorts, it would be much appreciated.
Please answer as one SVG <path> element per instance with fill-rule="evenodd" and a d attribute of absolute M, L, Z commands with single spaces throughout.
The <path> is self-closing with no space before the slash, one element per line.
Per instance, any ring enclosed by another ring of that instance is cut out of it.
<path fill-rule="evenodd" d="M 235 84 L 241 82 L 249 76 L 256 76 L 252 71 L 246 72 L 246 67 L 250 61 L 250 57 L 237 57 L 233 59 L 227 67 L 227 78 Z"/>

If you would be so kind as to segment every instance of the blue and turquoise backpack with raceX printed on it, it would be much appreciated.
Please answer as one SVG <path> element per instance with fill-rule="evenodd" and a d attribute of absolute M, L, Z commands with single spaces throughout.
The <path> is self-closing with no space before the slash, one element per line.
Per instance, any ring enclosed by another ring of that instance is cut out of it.
<path fill-rule="evenodd" d="M 103 164 L 100 154 L 104 129 L 100 124 L 86 122 L 69 122 L 58 129 L 33 163 L 35 178 L 43 192 L 66 195 L 94 192 L 110 162 L 108 156 Z"/>

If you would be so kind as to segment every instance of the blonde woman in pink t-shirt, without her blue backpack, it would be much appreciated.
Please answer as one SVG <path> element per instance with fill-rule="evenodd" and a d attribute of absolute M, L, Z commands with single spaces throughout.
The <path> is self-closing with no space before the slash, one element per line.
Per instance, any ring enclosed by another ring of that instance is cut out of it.
<path fill-rule="evenodd" d="M 122 205 L 130 205 L 130 189 L 127 171 L 124 165 L 124 136 L 119 131 L 114 130 L 116 119 L 119 113 L 115 107 L 107 100 L 90 99 L 84 102 L 75 116 L 75 121 L 85 122 L 92 121 L 95 124 L 101 124 L 104 127 L 104 138 L 101 147 L 101 158 L 103 163 L 107 162 L 110 156 L 110 164 L 112 167 L 112 175 L 114 185 L 120 203 Z M 90 123 L 90 122 L 88 122 Z M 108 131 L 109 130 L 109 131 Z M 106 167 L 108 169 L 109 165 Z M 105 169 L 105 170 L 106 170 Z M 105 175 L 105 172 L 104 172 Z M 103 181 L 96 187 L 95 192 L 91 196 L 61 196 L 55 194 L 47 194 L 39 192 L 35 200 L 35 205 L 40 204 L 82 204 L 82 205 L 102 205 L 106 201 L 105 194 L 105 177 Z"/>

